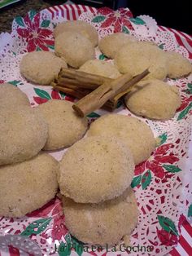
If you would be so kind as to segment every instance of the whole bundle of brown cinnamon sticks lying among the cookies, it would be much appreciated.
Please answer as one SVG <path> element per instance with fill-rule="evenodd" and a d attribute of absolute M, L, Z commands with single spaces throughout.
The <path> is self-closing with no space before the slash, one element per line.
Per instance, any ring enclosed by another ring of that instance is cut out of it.
<path fill-rule="evenodd" d="M 146 69 L 136 77 L 126 73 L 111 79 L 72 68 L 62 68 L 51 86 L 80 99 L 73 108 L 76 113 L 84 117 L 98 108 L 113 111 L 119 99 L 132 90 L 133 86 L 148 73 Z"/>

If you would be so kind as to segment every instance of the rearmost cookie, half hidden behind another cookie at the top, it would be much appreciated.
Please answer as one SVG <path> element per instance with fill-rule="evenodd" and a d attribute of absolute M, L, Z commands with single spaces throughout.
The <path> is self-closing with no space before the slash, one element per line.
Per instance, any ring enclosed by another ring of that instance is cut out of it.
<path fill-rule="evenodd" d="M 98 45 L 98 32 L 91 24 L 82 20 L 68 20 L 58 24 L 54 30 L 54 37 L 58 37 L 63 32 L 78 32 L 88 38 L 94 46 Z"/>

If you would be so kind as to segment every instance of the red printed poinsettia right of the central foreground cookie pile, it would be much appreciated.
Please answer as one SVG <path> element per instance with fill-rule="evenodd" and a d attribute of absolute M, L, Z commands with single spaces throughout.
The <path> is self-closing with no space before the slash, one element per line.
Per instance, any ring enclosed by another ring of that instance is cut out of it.
<path fill-rule="evenodd" d="M 179 160 L 172 152 L 168 152 L 171 148 L 173 148 L 172 143 L 163 144 L 156 148 L 149 159 L 136 166 L 135 175 L 142 174 L 145 170 L 151 170 L 155 177 L 164 179 L 166 172 L 163 165 L 172 165 Z"/>

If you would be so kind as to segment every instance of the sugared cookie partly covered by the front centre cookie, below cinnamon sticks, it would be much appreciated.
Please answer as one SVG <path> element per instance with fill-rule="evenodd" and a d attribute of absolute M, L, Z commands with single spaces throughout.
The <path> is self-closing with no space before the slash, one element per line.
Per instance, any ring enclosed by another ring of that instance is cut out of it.
<path fill-rule="evenodd" d="M 155 138 L 151 128 L 135 117 L 104 115 L 90 125 L 87 135 L 121 139 L 132 152 L 135 165 L 145 161 L 155 149 Z"/>

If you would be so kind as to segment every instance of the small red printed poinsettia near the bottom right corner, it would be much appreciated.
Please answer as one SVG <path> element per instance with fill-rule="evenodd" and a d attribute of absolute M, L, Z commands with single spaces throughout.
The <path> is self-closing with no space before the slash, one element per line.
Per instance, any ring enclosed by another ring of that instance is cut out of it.
<path fill-rule="evenodd" d="M 171 232 L 165 231 L 163 228 L 160 230 L 157 228 L 157 236 L 159 238 L 159 241 L 161 242 L 161 245 L 172 246 L 177 245 L 178 243 L 177 236 L 172 234 Z"/>

